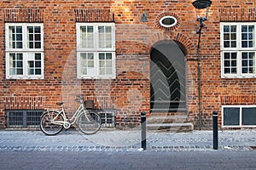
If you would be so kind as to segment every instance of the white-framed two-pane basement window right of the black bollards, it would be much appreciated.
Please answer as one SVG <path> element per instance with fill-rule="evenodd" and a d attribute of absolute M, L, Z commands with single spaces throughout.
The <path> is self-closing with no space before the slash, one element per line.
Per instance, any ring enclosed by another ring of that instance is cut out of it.
<path fill-rule="evenodd" d="M 223 127 L 256 127 L 256 105 L 225 105 Z"/>

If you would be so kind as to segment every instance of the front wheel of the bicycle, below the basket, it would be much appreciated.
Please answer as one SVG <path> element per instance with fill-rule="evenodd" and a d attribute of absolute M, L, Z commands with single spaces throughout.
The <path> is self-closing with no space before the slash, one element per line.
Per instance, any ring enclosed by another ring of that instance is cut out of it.
<path fill-rule="evenodd" d="M 78 126 L 85 134 L 94 134 L 101 128 L 101 117 L 93 111 L 83 111 L 79 114 Z"/>

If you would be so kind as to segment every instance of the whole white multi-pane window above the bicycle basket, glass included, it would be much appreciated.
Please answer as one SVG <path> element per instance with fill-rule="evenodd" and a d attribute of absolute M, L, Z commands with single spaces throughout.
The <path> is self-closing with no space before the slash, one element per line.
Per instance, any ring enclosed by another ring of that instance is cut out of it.
<path fill-rule="evenodd" d="M 115 78 L 114 23 L 77 23 L 78 78 Z"/>

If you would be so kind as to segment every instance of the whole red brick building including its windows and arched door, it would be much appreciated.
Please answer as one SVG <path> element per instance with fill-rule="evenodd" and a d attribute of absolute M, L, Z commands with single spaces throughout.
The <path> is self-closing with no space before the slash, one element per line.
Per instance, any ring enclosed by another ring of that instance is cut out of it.
<path fill-rule="evenodd" d="M 212 1 L 200 54 L 206 9 L 192 2 L 1 1 L 1 127 L 34 125 L 57 101 L 73 111 L 76 94 L 113 127 L 141 111 L 148 127 L 211 128 L 212 111 L 256 127 L 256 2 Z"/>

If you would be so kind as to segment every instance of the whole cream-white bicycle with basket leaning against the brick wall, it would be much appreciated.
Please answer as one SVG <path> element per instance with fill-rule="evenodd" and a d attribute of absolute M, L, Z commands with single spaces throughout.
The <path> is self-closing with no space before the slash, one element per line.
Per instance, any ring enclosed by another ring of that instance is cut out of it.
<path fill-rule="evenodd" d="M 82 95 L 76 97 L 80 105 L 70 119 L 66 116 L 64 102 L 56 103 L 56 105 L 60 105 L 61 111 L 48 110 L 44 112 L 40 118 L 40 129 L 43 133 L 55 135 L 60 133 L 63 128 L 68 129 L 75 123 L 77 123 L 79 130 L 85 134 L 93 134 L 100 130 L 101 117 L 94 111 L 86 110 Z"/>

